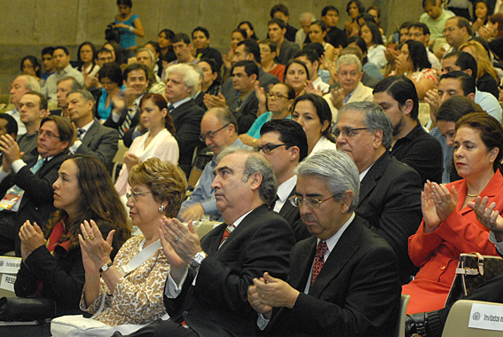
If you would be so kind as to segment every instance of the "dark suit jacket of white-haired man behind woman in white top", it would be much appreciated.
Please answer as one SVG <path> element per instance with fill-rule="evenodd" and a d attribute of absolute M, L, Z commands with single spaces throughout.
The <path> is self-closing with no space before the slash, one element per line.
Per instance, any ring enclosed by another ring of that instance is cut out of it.
<path fill-rule="evenodd" d="M 194 149 L 200 145 L 200 120 L 204 110 L 196 106 L 193 99 L 178 106 L 171 112 L 173 125 L 175 125 L 175 139 L 177 139 L 180 157 L 178 166 L 183 169 L 188 177 L 191 174 Z"/>

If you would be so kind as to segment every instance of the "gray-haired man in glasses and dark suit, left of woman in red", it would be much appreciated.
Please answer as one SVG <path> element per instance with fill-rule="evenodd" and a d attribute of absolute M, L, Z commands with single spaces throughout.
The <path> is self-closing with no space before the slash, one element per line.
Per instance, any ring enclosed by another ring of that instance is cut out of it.
<path fill-rule="evenodd" d="M 337 149 L 348 153 L 360 174 L 358 216 L 395 249 L 402 284 L 417 269 L 408 254 L 408 239 L 419 228 L 420 175 L 389 153 L 393 127 L 381 106 L 349 103 L 339 111 L 334 136 Z"/>

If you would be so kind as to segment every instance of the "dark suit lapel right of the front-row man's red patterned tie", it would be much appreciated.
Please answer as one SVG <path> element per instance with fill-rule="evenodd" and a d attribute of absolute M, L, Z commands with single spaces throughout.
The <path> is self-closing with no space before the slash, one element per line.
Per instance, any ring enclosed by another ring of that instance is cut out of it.
<path fill-rule="evenodd" d="M 330 252 L 328 259 L 323 264 L 323 268 L 319 271 L 314 285 L 310 288 L 310 295 L 319 298 L 326 286 L 328 286 L 334 278 L 337 278 L 346 263 L 350 261 L 351 257 L 359 249 L 360 244 L 358 242 L 358 237 L 362 229 L 363 225 L 358 220 L 358 217 L 355 217 L 346 231 L 342 233 L 342 237 L 335 245 L 334 251 Z M 311 264 L 313 259 L 310 260 Z"/>

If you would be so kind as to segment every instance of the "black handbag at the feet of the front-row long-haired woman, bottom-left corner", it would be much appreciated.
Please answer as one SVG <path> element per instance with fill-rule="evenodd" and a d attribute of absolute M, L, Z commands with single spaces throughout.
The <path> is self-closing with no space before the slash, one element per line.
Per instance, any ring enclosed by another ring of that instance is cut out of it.
<path fill-rule="evenodd" d="M 2 297 L 0 321 L 34 321 L 56 317 L 56 303 L 48 298 Z"/>

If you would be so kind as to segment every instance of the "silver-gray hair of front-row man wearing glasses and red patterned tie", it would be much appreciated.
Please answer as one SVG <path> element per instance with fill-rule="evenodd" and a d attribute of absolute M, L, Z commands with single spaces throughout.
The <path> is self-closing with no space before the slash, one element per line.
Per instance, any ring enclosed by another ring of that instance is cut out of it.
<path fill-rule="evenodd" d="M 315 176 L 323 180 L 335 201 L 341 201 L 344 192 L 353 192 L 350 212 L 358 206 L 360 178 L 357 165 L 342 151 L 333 149 L 313 153 L 295 169 L 297 176 Z"/>

